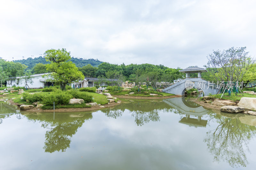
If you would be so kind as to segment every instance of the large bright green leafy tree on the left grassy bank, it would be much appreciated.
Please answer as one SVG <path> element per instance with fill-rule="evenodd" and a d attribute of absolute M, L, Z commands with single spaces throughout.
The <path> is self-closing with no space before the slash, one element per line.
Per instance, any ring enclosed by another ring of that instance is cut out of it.
<path fill-rule="evenodd" d="M 66 49 L 49 49 L 45 51 L 45 59 L 50 61 L 50 64 L 46 64 L 46 70 L 50 72 L 47 76 L 60 84 L 61 90 L 65 90 L 68 83 L 84 79 L 83 73 L 78 71 L 76 65 L 68 61 L 71 57 Z"/>

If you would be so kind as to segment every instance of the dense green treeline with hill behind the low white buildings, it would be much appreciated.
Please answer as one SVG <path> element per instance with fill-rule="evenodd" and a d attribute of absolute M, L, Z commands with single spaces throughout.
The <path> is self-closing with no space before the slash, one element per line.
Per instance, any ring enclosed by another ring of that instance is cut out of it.
<path fill-rule="evenodd" d="M 157 77 L 158 81 L 169 81 L 173 82 L 178 78 L 183 78 L 184 73 L 179 72 L 180 68 L 172 69 L 165 67 L 164 65 L 153 65 L 153 64 L 129 64 L 121 65 L 103 63 L 95 59 L 83 59 L 83 58 L 74 58 L 70 59 L 73 63 L 76 64 L 78 70 L 81 71 L 85 77 L 108 77 L 108 74 L 111 72 L 118 72 L 123 75 L 125 80 L 134 80 L 138 73 L 143 74 L 153 74 Z M 7 62 L 2 60 L 2 63 L 5 64 L 3 68 L 7 72 L 11 72 L 10 76 L 22 75 L 25 72 L 31 72 L 32 74 L 45 73 L 46 67 L 45 64 L 48 64 L 44 57 L 36 58 L 27 58 L 22 60 L 15 60 L 13 62 Z M 15 68 L 16 69 L 12 69 Z"/>

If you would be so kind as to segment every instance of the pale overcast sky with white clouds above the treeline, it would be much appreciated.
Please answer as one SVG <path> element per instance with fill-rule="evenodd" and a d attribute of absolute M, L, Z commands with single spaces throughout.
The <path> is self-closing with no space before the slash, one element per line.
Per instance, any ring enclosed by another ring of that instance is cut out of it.
<path fill-rule="evenodd" d="M 247 47 L 256 55 L 254 0 L 0 0 L 0 57 L 71 56 L 187 67 L 212 50 Z"/>

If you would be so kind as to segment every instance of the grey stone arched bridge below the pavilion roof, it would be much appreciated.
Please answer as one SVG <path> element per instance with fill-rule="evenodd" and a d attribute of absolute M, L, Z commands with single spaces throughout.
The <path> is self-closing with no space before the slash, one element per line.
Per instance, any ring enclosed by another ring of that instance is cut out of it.
<path fill-rule="evenodd" d="M 198 90 L 202 90 L 204 95 L 207 96 L 209 93 L 217 94 L 219 92 L 219 88 L 217 85 L 213 83 L 209 83 L 207 80 L 203 78 L 184 78 L 179 82 L 174 83 L 173 85 L 166 87 L 163 89 L 163 92 L 175 94 L 177 96 L 185 95 L 185 90 L 187 86 L 194 86 Z"/>

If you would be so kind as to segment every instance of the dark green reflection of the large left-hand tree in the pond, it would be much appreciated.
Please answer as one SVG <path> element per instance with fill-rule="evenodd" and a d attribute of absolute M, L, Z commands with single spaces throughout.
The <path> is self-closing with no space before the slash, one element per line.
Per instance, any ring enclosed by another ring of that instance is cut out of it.
<path fill-rule="evenodd" d="M 49 130 L 45 134 L 44 151 L 65 152 L 70 147 L 71 137 L 76 134 L 85 120 L 92 119 L 92 113 L 53 113 L 25 115 L 28 120 L 41 122 L 43 128 Z"/>

